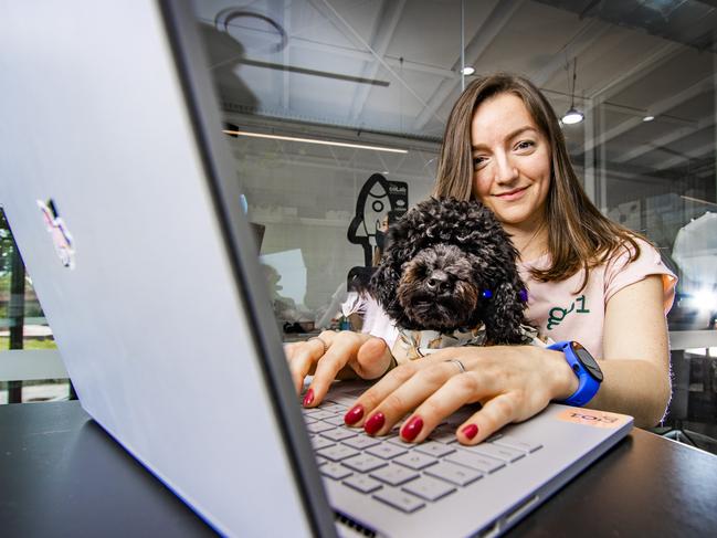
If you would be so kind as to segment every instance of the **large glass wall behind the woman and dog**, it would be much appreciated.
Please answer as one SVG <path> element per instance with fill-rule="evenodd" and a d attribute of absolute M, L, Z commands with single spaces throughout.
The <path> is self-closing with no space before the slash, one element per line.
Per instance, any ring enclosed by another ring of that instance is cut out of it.
<path fill-rule="evenodd" d="M 375 251 L 396 208 L 357 208 L 367 181 L 405 184 L 409 204 L 430 194 L 465 66 L 526 75 L 559 116 L 581 113 L 563 133 L 589 197 L 658 246 L 679 276 L 669 327 L 702 330 L 693 341 L 707 354 L 717 312 L 713 8 L 260 0 L 198 10 L 286 339 L 341 326 L 347 275 L 375 263 L 349 240 L 354 220 Z M 714 414 L 713 378 L 699 382 Z"/>

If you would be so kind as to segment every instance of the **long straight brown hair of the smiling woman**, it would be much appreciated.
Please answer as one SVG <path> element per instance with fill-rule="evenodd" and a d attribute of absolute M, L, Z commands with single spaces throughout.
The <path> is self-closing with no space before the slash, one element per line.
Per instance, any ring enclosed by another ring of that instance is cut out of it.
<path fill-rule="evenodd" d="M 635 238 L 642 235 L 604 217 L 590 201 L 578 181 L 570 162 L 562 129 L 548 99 L 527 78 L 509 73 L 495 73 L 471 82 L 453 106 L 441 148 L 436 198 L 473 198 L 473 157 L 471 124 L 476 108 L 498 94 L 518 96 L 550 144 L 551 178 L 546 200 L 548 252 L 551 265 L 534 268 L 533 276 L 541 282 L 562 281 L 581 268 L 588 283 L 589 270 L 599 265 L 620 249 L 626 249 L 632 262 L 640 256 Z"/>

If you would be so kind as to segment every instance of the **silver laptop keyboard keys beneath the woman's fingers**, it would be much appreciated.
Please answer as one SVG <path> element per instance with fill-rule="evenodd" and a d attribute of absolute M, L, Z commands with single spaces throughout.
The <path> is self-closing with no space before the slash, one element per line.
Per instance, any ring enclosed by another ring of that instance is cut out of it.
<path fill-rule="evenodd" d="M 528 457 L 542 445 L 496 434 L 476 446 L 455 439 L 455 425 L 437 426 L 423 443 L 404 443 L 398 428 L 371 437 L 344 424 L 357 394 L 304 409 L 304 420 L 325 481 L 339 482 L 391 508 L 410 514 L 450 494 L 474 487 L 486 475 Z"/>

